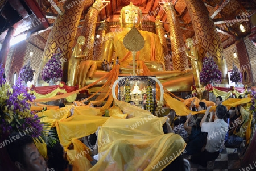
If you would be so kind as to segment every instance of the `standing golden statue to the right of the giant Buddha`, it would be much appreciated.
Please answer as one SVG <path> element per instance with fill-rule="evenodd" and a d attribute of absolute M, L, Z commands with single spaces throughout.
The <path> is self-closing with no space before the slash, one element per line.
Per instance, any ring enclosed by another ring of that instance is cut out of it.
<path fill-rule="evenodd" d="M 193 45 L 191 38 L 186 39 L 187 48 L 185 50 L 188 58 L 191 60 L 193 76 L 196 87 L 202 87 L 200 84 L 200 71 L 202 70 L 202 62 L 200 61 L 197 53 L 197 47 Z"/>

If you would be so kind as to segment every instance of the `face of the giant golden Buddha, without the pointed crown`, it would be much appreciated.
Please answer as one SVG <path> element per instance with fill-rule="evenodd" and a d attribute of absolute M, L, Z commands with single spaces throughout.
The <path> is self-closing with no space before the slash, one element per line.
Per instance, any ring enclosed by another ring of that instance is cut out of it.
<path fill-rule="evenodd" d="M 139 27 L 141 25 L 141 13 L 137 9 L 126 8 L 122 12 L 120 21 L 122 27 L 125 28 Z"/>

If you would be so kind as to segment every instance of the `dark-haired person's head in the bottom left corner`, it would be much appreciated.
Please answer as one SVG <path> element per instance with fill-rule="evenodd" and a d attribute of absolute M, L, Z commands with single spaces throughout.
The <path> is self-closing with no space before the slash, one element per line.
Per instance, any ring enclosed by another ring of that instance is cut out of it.
<path fill-rule="evenodd" d="M 30 135 L 21 136 L 18 132 L 10 135 L 15 139 L 6 145 L 7 153 L 19 171 L 35 171 L 47 169 L 46 161 Z"/>

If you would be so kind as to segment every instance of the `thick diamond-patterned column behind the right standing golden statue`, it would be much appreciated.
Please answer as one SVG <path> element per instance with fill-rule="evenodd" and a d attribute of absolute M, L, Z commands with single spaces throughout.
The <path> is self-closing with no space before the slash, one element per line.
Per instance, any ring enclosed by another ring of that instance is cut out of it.
<path fill-rule="evenodd" d="M 195 31 L 201 61 L 207 56 L 207 52 L 213 57 L 222 73 L 222 84 L 228 86 L 228 70 L 221 43 L 216 27 L 209 17 L 209 11 L 201 0 L 185 0 L 191 22 Z"/>

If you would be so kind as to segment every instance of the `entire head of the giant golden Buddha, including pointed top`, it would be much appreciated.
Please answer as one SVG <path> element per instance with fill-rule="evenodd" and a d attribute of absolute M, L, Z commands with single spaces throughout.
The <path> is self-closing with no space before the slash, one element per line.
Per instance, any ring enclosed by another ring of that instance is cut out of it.
<path fill-rule="evenodd" d="M 142 26 L 142 10 L 130 2 L 129 5 L 123 7 L 120 11 L 121 27 L 132 28 L 133 26 L 141 29 Z"/>

